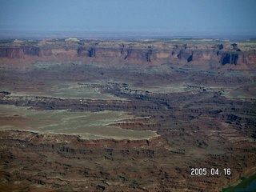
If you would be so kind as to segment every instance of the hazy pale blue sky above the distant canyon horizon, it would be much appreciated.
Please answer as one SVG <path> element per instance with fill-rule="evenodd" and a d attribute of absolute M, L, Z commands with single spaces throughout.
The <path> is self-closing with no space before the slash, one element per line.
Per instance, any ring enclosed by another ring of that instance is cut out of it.
<path fill-rule="evenodd" d="M 0 29 L 256 34 L 256 1 L 0 0 Z"/>

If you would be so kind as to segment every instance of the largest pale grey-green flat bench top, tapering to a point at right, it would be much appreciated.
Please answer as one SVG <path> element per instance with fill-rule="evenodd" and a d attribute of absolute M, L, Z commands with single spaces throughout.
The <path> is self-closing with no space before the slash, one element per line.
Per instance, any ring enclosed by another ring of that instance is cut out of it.
<path fill-rule="evenodd" d="M 0 106 L 1 130 L 27 130 L 42 134 L 72 134 L 84 139 L 146 139 L 158 136 L 150 130 L 123 130 L 110 126 L 134 116 L 120 111 L 70 112 L 67 110 L 27 110 L 21 106 Z M 132 129 L 132 127 L 131 127 Z"/>

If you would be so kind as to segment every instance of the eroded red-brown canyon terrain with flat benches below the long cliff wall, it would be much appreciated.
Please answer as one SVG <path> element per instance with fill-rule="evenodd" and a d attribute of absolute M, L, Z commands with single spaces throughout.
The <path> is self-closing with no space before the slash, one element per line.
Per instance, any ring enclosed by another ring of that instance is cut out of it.
<path fill-rule="evenodd" d="M 256 173 L 255 70 L 34 62 L 0 78 L 2 191 L 219 191 Z"/>

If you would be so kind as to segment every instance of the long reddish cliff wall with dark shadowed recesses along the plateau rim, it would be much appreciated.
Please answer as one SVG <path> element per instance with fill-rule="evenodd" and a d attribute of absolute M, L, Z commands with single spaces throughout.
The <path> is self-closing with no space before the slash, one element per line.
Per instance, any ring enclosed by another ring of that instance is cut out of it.
<path fill-rule="evenodd" d="M 198 43 L 174 44 L 159 42 L 39 42 L 33 46 L 30 43 L 2 44 L 0 58 L 34 58 L 38 60 L 90 59 L 94 62 L 118 63 L 149 63 L 161 65 L 176 63 L 179 65 L 204 65 L 218 68 L 226 64 L 236 66 L 236 69 L 246 67 L 255 69 L 255 45 L 236 43 Z"/>

